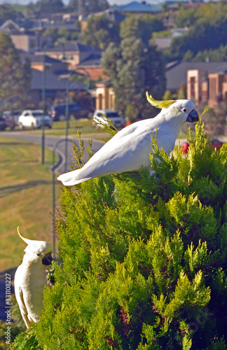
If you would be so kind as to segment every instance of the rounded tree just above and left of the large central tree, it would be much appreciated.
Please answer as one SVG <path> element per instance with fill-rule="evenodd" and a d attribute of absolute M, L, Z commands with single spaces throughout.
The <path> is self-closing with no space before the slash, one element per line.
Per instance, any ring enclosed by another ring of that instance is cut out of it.
<path fill-rule="evenodd" d="M 109 43 L 119 43 L 119 29 L 116 23 L 104 15 L 91 16 L 82 35 L 83 43 L 105 50 Z"/>

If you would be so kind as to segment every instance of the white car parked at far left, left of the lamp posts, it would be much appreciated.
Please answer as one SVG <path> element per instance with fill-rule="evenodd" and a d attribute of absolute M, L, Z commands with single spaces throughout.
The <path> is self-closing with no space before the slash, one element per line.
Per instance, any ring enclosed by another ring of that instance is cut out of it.
<path fill-rule="evenodd" d="M 53 125 L 53 119 L 45 115 L 41 109 L 26 109 L 22 112 L 18 119 L 18 125 L 20 129 L 24 129 L 25 127 L 41 128 L 44 123 L 45 127 L 49 127 L 51 129 Z"/>

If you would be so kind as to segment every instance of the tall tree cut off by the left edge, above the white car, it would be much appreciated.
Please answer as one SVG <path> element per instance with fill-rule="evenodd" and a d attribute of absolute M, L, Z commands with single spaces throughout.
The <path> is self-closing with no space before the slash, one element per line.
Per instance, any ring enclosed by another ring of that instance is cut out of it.
<path fill-rule="evenodd" d="M 15 104 L 27 100 L 32 79 L 31 66 L 29 60 L 21 63 L 18 50 L 4 33 L 0 33 L 0 55 L 0 99 L 13 111 Z"/>

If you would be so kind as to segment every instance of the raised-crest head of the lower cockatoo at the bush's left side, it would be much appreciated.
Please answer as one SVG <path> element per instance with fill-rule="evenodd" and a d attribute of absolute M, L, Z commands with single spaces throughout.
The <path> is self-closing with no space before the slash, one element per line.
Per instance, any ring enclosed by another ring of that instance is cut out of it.
<path fill-rule="evenodd" d="M 23 241 L 25 241 L 25 243 L 27 243 L 23 261 L 45 265 L 46 267 L 51 264 L 53 260 L 51 255 L 53 252 L 53 247 L 50 243 L 47 241 L 35 241 L 34 239 L 22 237 L 19 228 L 18 235 Z"/>

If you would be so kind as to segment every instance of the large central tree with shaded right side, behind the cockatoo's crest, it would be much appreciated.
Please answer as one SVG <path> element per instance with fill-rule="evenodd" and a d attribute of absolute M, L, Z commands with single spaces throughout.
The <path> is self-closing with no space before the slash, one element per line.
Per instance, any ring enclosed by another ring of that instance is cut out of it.
<path fill-rule="evenodd" d="M 109 76 L 116 96 L 116 109 L 125 112 L 132 104 L 137 114 L 151 116 L 146 91 L 156 99 L 165 92 L 163 56 L 153 45 L 144 46 L 141 39 L 125 38 L 121 45 L 110 43 L 102 57 L 102 66 Z"/>

